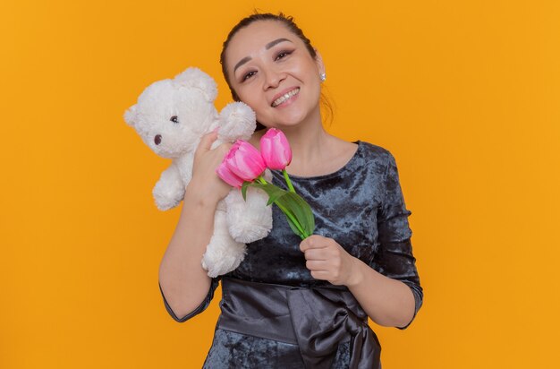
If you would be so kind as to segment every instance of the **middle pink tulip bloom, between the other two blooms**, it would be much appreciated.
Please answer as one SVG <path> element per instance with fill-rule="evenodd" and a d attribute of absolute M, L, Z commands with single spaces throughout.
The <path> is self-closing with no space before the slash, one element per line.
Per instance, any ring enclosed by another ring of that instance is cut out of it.
<path fill-rule="evenodd" d="M 259 150 L 249 142 L 237 140 L 225 155 L 225 165 L 243 181 L 252 182 L 262 175 L 267 165 Z"/>

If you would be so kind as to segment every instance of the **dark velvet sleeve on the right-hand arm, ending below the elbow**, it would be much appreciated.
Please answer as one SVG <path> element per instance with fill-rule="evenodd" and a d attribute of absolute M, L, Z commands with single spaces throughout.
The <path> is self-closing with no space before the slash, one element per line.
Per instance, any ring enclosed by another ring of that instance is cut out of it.
<path fill-rule="evenodd" d="M 388 152 L 388 151 L 387 151 Z M 408 217 L 412 211 L 406 209 L 399 182 L 395 158 L 388 153 L 384 199 L 378 208 L 378 250 L 370 266 L 391 279 L 402 281 L 412 290 L 415 309 L 411 322 L 399 330 L 406 329 L 416 317 L 422 305 L 424 294 L 420 287 L 420 277 L 416 269 L 416 259 L 412 255 L 412 230 Z"/>

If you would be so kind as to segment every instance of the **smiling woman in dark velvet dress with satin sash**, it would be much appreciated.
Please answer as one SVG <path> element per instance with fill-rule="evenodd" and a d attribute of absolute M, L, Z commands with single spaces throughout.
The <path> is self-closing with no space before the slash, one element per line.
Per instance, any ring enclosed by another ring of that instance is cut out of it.
<path fill-rule="evenodd" d="M 248 104 L 261 127 L 287 136 L 293 160 L 286 169 L 310 202 L 316 232 L 301 241 L 274 207 L 271 233 L 248 245 L 236 270 L 208 278 L 200 259 L 216 203 L 231 190 L 215 173 L 231 145 L 210 150 L 216 133 L 209 133 L 161 262 L 167 311 L 178 322 L 201 313 L 221 279 L 222 314 L 204 367 L 380 368 L 368 317 L 404 329 L 423 298 L 395 159 L 323 129 L 325 65 L 292 18 L 243 19 L 228 35 L 221 63 L 233 99 Z M 259 148 L 265 131 L 250 142 Z M 273 176 L 283 185 L 279 171 Z"/>

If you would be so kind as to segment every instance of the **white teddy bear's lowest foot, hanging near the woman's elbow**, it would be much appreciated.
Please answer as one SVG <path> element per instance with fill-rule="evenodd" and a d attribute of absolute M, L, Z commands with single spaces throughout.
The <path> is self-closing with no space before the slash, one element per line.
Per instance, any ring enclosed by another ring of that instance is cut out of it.
<path fill-rule="evenodd" d="M 202 268 L 208 270 L 208 277 L 235 270 L 245 258 L 245 244 L 233 241 L 229 235 L 214 235 L 202 255 Z"/>

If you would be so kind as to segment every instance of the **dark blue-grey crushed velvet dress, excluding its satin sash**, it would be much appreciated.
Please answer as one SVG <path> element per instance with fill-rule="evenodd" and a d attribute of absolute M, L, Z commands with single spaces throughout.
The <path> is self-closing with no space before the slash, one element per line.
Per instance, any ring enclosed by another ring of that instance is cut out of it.
<path fill-rule="evenodd" d="M 310 203 L 315 214 L 315 234 L 335 239 L 348 253 L 374 270 L 410 287 L 415 299 L 415 317 L 422 305 L 423 292 L 412 255 L 412 231 L 408 223 L 411 211 L 404 204 L 395 158 L 388 150 L 369 142 L 355 143 L 358 149 L 352 159 L 336 172 L 290 178 L 295 191 Z M 282 173 L 272 172 L 273 183 L 285 188 Z M 165 308 L 177 322 L 191 319 L 208 307 L 223 278 L 296 287 L 332 286 L 326 280 L 311 277 L 300 243 L 300 237 L 293 234 L 284 213 L 273 205 L 270 234 L 247 245 L 247 254 L 236 270 L 212 279 L 208 296 L 197 309 L 177 317 L 164 296 Z M 223 293 L 220 302 L 223 312 L 226 300 L 234 297 Z M 403 330 L 411 322 L 397 328 Z M 349 367 L 351 351 L 348 340 L 340 341 L 332 367 Z M 305 365 L 299 346 L 293 342 L 224 330 L 216 325 L 204 367 L 305 368 Z"/>

